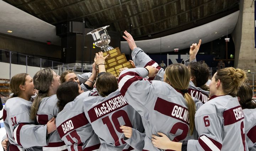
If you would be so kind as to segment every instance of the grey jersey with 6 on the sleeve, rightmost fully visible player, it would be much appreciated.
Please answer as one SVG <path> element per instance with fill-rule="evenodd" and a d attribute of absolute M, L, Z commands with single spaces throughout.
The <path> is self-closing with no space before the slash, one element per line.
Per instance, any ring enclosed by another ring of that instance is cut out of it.
<path fill-rule="evenodd" d="M 244 113 L 237 97 L 213 96 L 195 115 L 198 140 L 188 140 L 188 151 L 248 151 Z"/>

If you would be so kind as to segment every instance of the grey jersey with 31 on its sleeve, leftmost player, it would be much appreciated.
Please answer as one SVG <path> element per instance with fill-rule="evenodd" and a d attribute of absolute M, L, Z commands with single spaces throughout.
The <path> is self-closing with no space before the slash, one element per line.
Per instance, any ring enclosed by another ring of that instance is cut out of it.
<path fill-rule="evenodd" d="M 40 148 L 42 150 L 42 147 L 33 146 L 48 144 L 47 126 L 36 125 L 30 119 L 31 105 L 31 101 L 19 97 L 10 98 L 5 104 L 3 119 L 11 151 L 40 150 Z"/>

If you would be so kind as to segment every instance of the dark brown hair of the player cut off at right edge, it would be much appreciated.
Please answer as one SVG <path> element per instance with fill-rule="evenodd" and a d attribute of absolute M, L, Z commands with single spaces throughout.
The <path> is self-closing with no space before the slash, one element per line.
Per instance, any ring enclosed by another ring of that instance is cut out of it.
<path fill-rule="evenodd" d="M 253 92 L 249 85 L 246 83 L 242 83 L 239 87 L 237 95 L 240 98 L 240 105 L 242 109 L 255 109 L 256 108 L 256 100 L 252 99 Z"/>

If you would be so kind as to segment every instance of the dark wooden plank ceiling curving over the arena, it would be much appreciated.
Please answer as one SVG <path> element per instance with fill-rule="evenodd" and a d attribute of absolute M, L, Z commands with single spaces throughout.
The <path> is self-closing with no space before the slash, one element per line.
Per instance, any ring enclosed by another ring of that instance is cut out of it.
<path fill-rule="evenodd" d="M 175 34 L 239 10 L 239 0 L 4 0 L 52 25 L 86 21 L 87 28 L 130 31 L 135 40 Z"/>

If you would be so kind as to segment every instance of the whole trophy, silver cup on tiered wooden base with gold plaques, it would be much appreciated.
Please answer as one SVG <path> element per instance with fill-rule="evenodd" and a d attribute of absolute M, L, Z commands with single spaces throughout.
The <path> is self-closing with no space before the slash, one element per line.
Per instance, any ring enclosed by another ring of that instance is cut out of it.
<path fill-rule="evenodd" d="M 119 48 L 113 48 L 109 46 L 110 43 L 110 36 L 107 33 L 108 26 L 101 27 L 95 29 L 88 33 L 87 35 L 91 34 L 95 46 L 100 47 L 101 51 L 103 52 L 103 56 L 107 56 L 109 54 L 108 59 L 105 60 L 105 68 L 108 73 L 118 77 L 119 76 L 119 69 L 120 68 L 132 68 L 130 62 L 126 60 L 126 56 L 124 53 L 121 54 Z"/>

